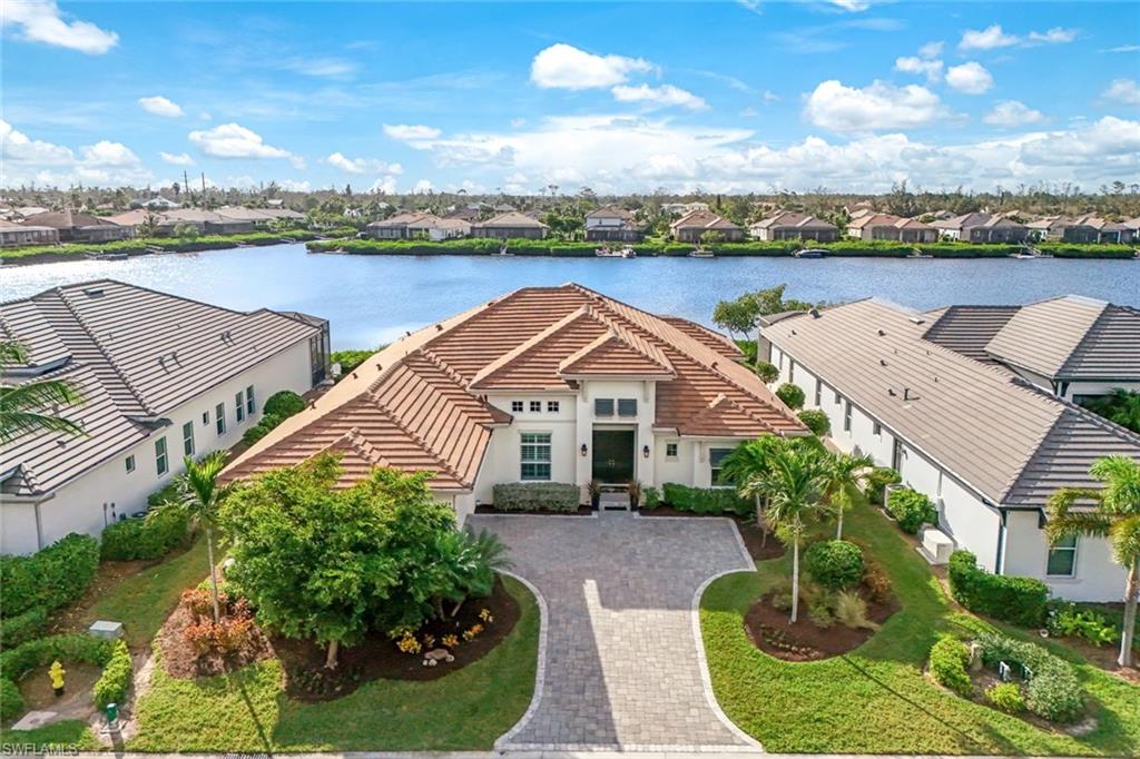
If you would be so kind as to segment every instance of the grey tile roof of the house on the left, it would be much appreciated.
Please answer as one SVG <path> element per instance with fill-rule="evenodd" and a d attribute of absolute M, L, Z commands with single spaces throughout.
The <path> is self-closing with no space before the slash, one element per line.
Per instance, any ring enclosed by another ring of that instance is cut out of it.
<path fill-rule="evenodd" d="M 85 402 L 62 415 L 87 431 L 25 434 L 0 448 L 0 471 L 22 473 L 0 492 L 50 492 L 169 424 L 164 414 L 319 329 L 264 309 L 230 311 L 111 279 L 0 304 L 0 332 L 30 352 L 28 365 L 7 368 L 5 379 L 74 382 Z"/>

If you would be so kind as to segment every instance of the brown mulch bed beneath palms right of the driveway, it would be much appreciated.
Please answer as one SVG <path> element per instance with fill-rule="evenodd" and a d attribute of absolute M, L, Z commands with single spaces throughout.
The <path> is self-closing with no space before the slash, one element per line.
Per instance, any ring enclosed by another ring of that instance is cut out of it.
<path fill-rule="evenodd" d="M 868 598 L 866 589 L 861 590 L 861 595 Z M 744 630 L 752 645 L 776 659 L 815 661 L 838 656 L 863 645 L 876 632 L 866 628 L 846 627 L 838 621 L 826 629 L 816 627 L 803 599 L 799 603 L 799 619 L 792 625 L 788 621 L 790 612 L 772 605 L 774 595 L 776 591 L 765 594 L 752 604 L 744 615 Z M 868 619 L 877 625 L 886 622 L 896 611 L 898 603 L 894 598 L 885 604 L 871 601 L 866 603 Z"/>

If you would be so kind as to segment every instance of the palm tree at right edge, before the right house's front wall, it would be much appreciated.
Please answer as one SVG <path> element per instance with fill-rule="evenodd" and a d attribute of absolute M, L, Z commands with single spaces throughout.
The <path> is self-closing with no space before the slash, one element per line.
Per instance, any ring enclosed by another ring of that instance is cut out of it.
<path fill-rule="evenodd" d="M 1049 499 L 1045 536 L 1050 545 L 1076 534 L 1106 538 L 1112 545 L 1113 558 L 1127 571 L 1124 630 L 1116 661 L 1121 667 L 1131 667 L 1140 596 L 1140 463 L 1109 456 L 1093 462 L 1089 474 L 1104 487 L 1061 488 L 1054 492 Z M 1081 508 L 1081 504 L 1089 506 Z"/>

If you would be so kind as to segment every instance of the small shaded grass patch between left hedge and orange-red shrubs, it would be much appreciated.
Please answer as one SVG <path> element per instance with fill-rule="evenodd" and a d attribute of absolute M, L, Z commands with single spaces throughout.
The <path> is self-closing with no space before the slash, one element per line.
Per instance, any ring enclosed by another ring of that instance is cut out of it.
<path fill-rule="evenodd" d="M 147 646 L 174 611 L 182 590 L 195 587 L 209 572 L 206 541 L 198 538 L 185 553 L 112 586 L 87 610 L 84 627 L 97 619 L 120 621 L 127 645 Z"/>

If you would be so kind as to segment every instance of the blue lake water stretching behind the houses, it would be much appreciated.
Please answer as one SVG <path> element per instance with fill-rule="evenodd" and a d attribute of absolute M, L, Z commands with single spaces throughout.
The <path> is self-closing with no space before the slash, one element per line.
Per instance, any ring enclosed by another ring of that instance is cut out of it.
<path fill-rule="evenodd" d="M 780 283 L 808 301 L 877 295 L 920 309 L 1064 293 L 1140 305 L 1140 261 L 1126 260 L 369 256 L 314 255 L 300 244 L 6 267 L 0 299 L 99 278 L 233 309 L 321 316 L 332 321 L 337 349 L 374 346 L 518 287 L 565 281 L 706 324 L 717 301 Z"/>

